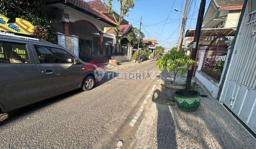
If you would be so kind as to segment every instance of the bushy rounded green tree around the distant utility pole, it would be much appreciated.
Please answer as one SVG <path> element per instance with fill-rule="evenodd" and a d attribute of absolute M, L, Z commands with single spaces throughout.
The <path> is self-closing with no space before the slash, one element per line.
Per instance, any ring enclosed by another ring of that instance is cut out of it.
<path fill-rule="evenodd" d="M 132 31 L 128 33 L 127 38 L 129 40 L 129 44 L 130 46 L 132 46 L 133 48 L 135 48 L 136 46 L 138 46 L 138 38 L 139 37 L 139 29 L 136 27 L 132 28 Z M 140 47 L 144 47 L 142 44 L 142 40 L 143 38 L 145 38 L 145 34 L 143 32 L 140 32 Z"/>

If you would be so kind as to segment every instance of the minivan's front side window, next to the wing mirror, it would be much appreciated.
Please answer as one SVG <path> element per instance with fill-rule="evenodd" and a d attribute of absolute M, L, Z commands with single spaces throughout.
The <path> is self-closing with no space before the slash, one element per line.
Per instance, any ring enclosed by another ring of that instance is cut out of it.
<path fill-rule="evenodd" d="M 41 63 L 72 64 L 73 62 L 71 55 L 63 49 L 37 45 L 34 47 Z"/>

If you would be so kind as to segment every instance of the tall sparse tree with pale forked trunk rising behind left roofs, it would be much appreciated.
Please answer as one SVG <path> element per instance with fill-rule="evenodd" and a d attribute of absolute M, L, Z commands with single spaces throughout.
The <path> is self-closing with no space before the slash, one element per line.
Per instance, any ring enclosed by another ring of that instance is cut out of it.
<path fill-rule="evenodd" d="M 119 18 L 116 18 L 113 14 L 113 9 L 112 9 L 112 1 L 113 0 L 108 0 L 108 13 L 111 13 L 113 15 L 113 18 L 116 22 L 116 27 L 113 27 L 114 31 L 116 31 L 116 45 L 118 44 L 118 35 L 119 35 L 119 27 L 121 25 L 121 22 L 123 21 L 124 16 L 128 16 L 127 12 L 129 12 L 129 9 L 134 7 L 134 1 L 133 0 L 117 0 L 120 2 L 120 14 Z"/>

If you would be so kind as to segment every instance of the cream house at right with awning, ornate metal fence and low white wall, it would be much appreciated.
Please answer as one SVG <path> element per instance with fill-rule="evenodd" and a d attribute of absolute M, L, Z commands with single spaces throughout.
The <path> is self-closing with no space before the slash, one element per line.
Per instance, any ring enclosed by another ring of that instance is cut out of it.
<path fill-rule="evenodd" d="M 235 37 L 243 4 L 244 0 L 211 0 L 203 18 L 193 74 L 204 82 L 213 98 L 217 98 L 225 74 L 223 68 L 230 57 L 230 43 Z M 195 29 L 188 29 L 185 37 L 194 37 L 194 34 Z M 188 47 L 192 50 L 195 45 L 190 42 Z M 223 65 L 219 66 L 220 63 Z"/>

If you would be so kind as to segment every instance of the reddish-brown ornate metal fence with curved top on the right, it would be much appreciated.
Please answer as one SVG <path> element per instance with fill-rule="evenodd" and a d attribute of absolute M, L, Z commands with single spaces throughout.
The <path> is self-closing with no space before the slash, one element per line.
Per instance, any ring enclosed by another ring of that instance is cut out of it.
<path fill-rule="evenodd" d="M 218 80 L 220 80 L 224 66 L 220 64 L 224 64 L 228 52 L 228 46 L 225 44 L 226 40 L 228 39 L 223 36 L 216 37 L 210 43 L 204 54 L 201 70 Z"/>

